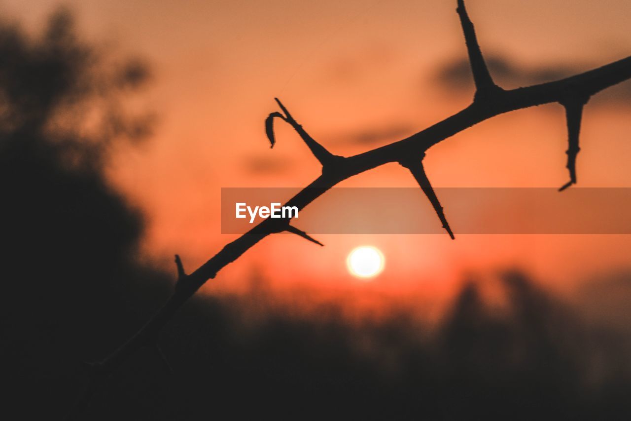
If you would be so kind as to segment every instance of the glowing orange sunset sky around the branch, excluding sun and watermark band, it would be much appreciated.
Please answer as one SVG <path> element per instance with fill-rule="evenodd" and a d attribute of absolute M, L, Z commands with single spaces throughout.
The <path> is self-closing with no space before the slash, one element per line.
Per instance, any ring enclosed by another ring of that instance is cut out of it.
<path fill-rule="evenodd" d="M 189 267 L 199 265 L 233 238 L 220 234 L 221 186 L 302 186 L 317 176 L 317 161 L 290 128 L 279 128 L 278 145 L 269 149 L 263 121 L 276 111 L 274 96 L 314 138 L 343 155 L 406 137 L 466 106 L 470 95 L 447 92 L 435 78 L 439 66 L 465 54 L 455 3 L 66 2 L 90 39 L 153 64 L 144 102 L 161 116 L 156 135 L 139 149 L 118 151 L 111 169 L 114 183 L 148 215 L 148 252 L 158 259 L 177 252 Z M 4 1 L 0 12 L 37 30 L 56 4 Z M 627 1 L 469 0 L 468 8 L 483 51 L 525 68 L 587 70 L 631 51 Z M 631 186 L 629 111 L 619 103 L 587 106 L 580 186 Z M 353 142 L 365 133 L 383 136 Z M 430 150 L 425 164 L 435 186 L 560 186 L 567 181 L 565 149 L 563 111 L 546 106 L 460 133 Z M 390 165 L 343 185 L 414 182 Z M 432 294 L 463 272 L 517 265 L 563 286 L 625 267 L 631 250 L 631 236 L 622 235 L 319 240 L 326 247 L 293 236 L 266 239 L 216 283 L 238 288 L 260 269 L 282 285 Z M 370 286 L 345 269 L 346 253 L 365 243 L 387 259 Z M 167 264 L 171 269 L 170 257 Z"/>

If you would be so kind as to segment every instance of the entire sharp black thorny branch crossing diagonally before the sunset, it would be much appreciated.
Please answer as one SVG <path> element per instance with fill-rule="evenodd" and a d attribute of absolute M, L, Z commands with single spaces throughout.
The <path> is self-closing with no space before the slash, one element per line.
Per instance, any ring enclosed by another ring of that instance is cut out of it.
<path fill-rule="evenodd" d="M 570 182 L 563 186 L 564 190 L 576 182 L 576 156 L 579 152 L 579 131 L 581 127 L 582 109 L 587 100 L 605 88 L 616 85 L 631 78 L 631 56 L 606 64 L 600 68 L 586 71 L 579 75 L 570 76 L 556 82 L 542 83 L 530 87 L 504 90 L 493 82 L 478 45 L 473 23 L 469 19 L 463 0 L 457 0 L 457 13 L 460 17 L 464 32 L 464 39 L 469 53 L 469 61 L 476 85 L 476 94 L 471 105 L 398 142 L 369 150 L 350 157 L 331 154 L 320 143 L 302 128 L 283 104 L 276 99 L 282 113 L 269 114 L 266 119 L 266 133 L 274 146 L 274 119 L 280 118 L 292 125 L 294 130 L 307 144 L 312 154 L 322 164 L 322 174 L 309 186 L 297 193 L 286 205 L 304 209 L 316 198 L 337 185 L 340 181 L 368 171 L 388 162 L 399 162 L 409 168 L 418 181 L 425 195 L 427 195 L 440 221 L 453 238 L 451 228 L 447 224 L 440 202 L 433 192 L 432 186 L 425 175 L 422 160 L 425 152 L 436 143 L 466 130 L 467 128 L 485 121 L 499 114 L 509 113 L 518 109 L 540 106 L 557 102 L 565 107 L 569 148 L 567 151 L 567 168 Z M 100 362 L 90 364 L 90 379 L 85 394 L 76 403 L 69 414 L 69 418 L 78 417 L 88 405 L 93 394 L 103 389 L 112 373 L 143 346 L 156 346 L 158 333 L 172 318 L 174 313 L 190 298 L 206 281 L 215 278 L 223 267 L 238 259 L 243 253 L 252 248 L 272 233 L 288 231 L 321 245 L 300 229 L 290 226 L 289 219 L 265 219 L 237 240 L 228 243 L 220 252 L 211 257 L 191 274 L 184 272 L 179 257 L 176 257 L 178 281 L 172 296 L 167 303 L 141 328 L 134 336 Z M 162 352 L 160 351 L 160 354 Z"/>

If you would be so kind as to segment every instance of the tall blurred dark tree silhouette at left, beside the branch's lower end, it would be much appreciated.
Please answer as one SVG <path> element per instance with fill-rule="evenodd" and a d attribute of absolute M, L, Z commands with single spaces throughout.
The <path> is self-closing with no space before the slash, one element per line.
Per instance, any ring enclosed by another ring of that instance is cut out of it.
<path fill-rule="evenodd" d="M 148 73 L 107 60 L 64 9 L 34 39 L 0 23 L 0 356 L 25 410 L 62 413 L 76 364 L 138 327 L 166 285 L 136 262 L 143 218 L 103 176 L 110 146 L 149 133 L 123 101 Z"/>

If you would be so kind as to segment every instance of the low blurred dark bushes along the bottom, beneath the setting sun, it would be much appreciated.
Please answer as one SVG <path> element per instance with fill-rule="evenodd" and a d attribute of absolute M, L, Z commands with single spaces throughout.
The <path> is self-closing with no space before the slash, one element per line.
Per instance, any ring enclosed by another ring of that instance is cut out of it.
<path fill-rule="evenodd" d="M 466 283 L 437 326 L 396 310 L 350 322 L 335 305 L 297 316 L 266 294 L 198 300 L 163 332 L 175 374 L 143 352 L 86 417 L 628 417 L 628 338 L 587 327 L 519 272 L 500 284 L 503 310 Z M 254 324 L 241 316 L 253 307 Z"/>

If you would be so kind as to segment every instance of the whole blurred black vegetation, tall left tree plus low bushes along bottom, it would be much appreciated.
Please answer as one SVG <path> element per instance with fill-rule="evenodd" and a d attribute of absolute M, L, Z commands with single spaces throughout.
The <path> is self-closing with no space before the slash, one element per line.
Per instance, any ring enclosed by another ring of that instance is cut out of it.
<path fill-rule="evenodd" d="M 95 54 L 67 13 L 35 40 L 0 24 L 0 412 L 11 419 L 62 418 L 88 382 L 79 362 L 129 338 L 172 290 L 172 276 L 139 263 L 142 217 L 102 172 L 108 146 L 146 121 L 109 107 L 97 135 L 55 124 L 146 77 L 136 61 L 95 71 Z M 290 316 L 262 293 L 197 298 L 160 339 L 174 374 L 143 350 L 83 418 L 631 417 L 628 336 L 586 326 L 517 272 L 501 284 L 502 310 L 466 283 L 431 328 L 404 311 L 349 322 L 334 305 Z"/>

